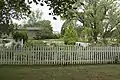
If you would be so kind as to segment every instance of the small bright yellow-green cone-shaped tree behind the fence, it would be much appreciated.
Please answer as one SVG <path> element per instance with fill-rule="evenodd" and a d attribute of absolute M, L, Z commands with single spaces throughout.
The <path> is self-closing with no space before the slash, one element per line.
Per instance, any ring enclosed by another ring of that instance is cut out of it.
<path fill-rule="evenodd" d="M 72 26 L 69 26 L 65 29 L 65 34 L 63 38 L 65 44 L 74 45 L 75 42 L 78 40 L 78 35 L 76 30 Z"/>

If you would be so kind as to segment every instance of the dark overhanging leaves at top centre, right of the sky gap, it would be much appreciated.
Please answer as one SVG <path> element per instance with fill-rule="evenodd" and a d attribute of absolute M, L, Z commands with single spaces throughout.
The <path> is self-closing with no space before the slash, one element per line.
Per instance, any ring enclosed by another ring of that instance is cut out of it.
<path fill-rule="evenodd" d="M 32 2 L 39 4 L 41 6 L 44 6 L 44 4 L 47 4 L 49 6 L 49 10 L 53 9 L 49 15 L 60 15 L 63 17 L 67 17 L 68 14 L 66 11 L 70 9 L 74 9 L 72 6 L 77 0 L 28 0 L 29 4 Z M 56 18 L 53 16 L 53 19 L 56 20 Z"/>

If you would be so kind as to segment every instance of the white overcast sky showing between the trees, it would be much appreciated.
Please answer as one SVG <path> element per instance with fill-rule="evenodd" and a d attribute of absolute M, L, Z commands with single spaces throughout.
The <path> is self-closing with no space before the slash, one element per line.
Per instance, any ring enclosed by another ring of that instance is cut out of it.
<path fill-rule="evenodd" d="M 46 5 L 40 6 L 40 5 L 36 5 L 35 3 L 32 3 L 30 6 L 32 7 L 31 8 L 32 11 L 35 11 L 38 9 L 43 12 L 42 19 L 51 21 L 53 31 L 59 31 L 59 32 L 61 31 L 61 27 L 62 27 L 62 24 L 64 21 L 60 20 L 60 17 L 57 17 L 57 20 L 53 20 L 53 16 L 49 15 L 50 11 L 49 11 L 48 6 L 46 6 Z M 23 20 L 21 20 L 21 21 L 13 20 L 13 22 L 22 24 L 24 21 Z"/>

